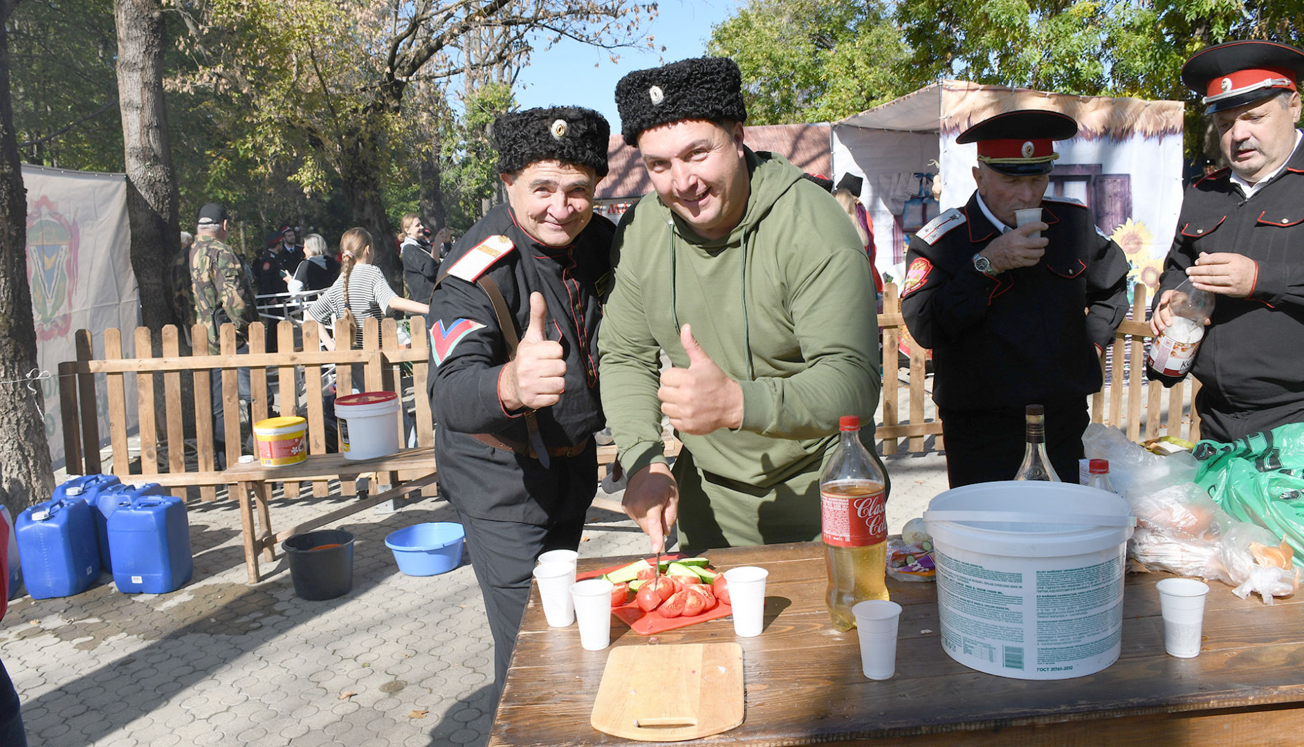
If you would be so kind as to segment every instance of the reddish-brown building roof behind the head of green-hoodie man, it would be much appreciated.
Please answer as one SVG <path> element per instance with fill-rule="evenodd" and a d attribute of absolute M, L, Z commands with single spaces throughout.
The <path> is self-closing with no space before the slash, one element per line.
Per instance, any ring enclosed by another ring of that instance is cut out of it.
<path fill-rule="evenodd" d="M 832 177 L 827 124 L 756 125 L 743 128 L 743 142 L 751 150 L 768 150 L 808 173 Z M 638 149 L 613 134 L 606 150 L 606 179 L 597 185 L 597 199 L 627 199 L 652 192 L 652 180 L 639 160 Z"/>

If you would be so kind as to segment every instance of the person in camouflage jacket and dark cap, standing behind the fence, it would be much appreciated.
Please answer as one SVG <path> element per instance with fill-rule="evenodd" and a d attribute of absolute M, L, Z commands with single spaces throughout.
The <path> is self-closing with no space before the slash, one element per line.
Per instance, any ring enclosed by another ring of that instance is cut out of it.
<path fill-rule="evenodd" d="M 249 323 L 258 321 L 253 287 L 240 256 L 224 242 L 227 237 L 227 211 L 210 202 L 200 209 L 194 244 L 181 252 L 172 266 L 173 306 L 186 329 L 196 322 L 207 326 L 209 347 L 216 353 L 218 330 L 230 322 L 236 329 L 236 353 L 249 352 Z M 192 347 L 201 347 L 192 340 Z M 203 355 L 203 351 L 196 351 Z M 240 399 L 249 402 L 249 369 L 237 369 Z M 213 441 L 218 467 L 224 463 L 226 448 L 224 407 L 222 403 L 222 375 L 218 369 L 210 377 L 213 387 Z"/>

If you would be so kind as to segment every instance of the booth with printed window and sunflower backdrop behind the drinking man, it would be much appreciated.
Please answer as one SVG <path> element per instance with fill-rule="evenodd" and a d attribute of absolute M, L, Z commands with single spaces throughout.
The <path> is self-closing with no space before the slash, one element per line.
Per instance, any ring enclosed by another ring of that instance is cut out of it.
<path fill-rule="evenodd" d="M 1154 288 L 1181 207 L 1181 102 L 1074 96 L 941 81 L 833 124 L 833 179 L 865 177 L 861 202 L 874 218 L 876 263 L 900 283 L 910 236 L 974 190 L 977 146 L 957 145 L 970 125 L 999 112 L 1054 110 L 1077 120 L 1047 194 L 1085 202 L 1097 226 L 1128 254 L 1129 286 Z"/>

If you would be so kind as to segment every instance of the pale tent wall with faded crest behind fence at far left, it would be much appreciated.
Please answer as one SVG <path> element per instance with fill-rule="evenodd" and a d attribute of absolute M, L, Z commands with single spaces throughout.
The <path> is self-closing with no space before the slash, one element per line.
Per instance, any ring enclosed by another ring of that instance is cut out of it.
<path fill-rule="evenodd" d="M 50 377 L 37 382 L 46 416 L 50 455 L 64 464 L 59 417 L 59 362 L 77 357 L 73 332 L 91 331 L 96 355 L 104 330 L 123 330 L 123 353 L 133 355 L 132 330 L 140 319 L 140 296 L 130 261 L 126 180 L 121 173 L 63 171 L 22 166 L 27 188 L 27 280 L 37 326 L 37 361 Z M 136 396 L 133 377 L 126 396 Z M 108 438 L 106 379 L 96 377 L 99 429 Z M 126 424 L 137 426 L 134 415 Z"/>

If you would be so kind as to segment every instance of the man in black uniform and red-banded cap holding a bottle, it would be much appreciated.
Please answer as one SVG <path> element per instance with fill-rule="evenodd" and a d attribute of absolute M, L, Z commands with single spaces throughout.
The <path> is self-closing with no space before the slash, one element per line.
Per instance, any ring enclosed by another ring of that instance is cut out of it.
<path fill-rule="evenodd" d="M 1187 278 L 1217 293 L 1191 373 L 1201 435 L 1228 442 L 1304 420 L 1304 151 L 1299 147 L 1304 51 L 1228 42 L 1187 60 L 1230 168 L 1187 189 L 1150 326 L 1168 326 Z M 1175 378 L 1150 372 L 1166 385 Z"/>

